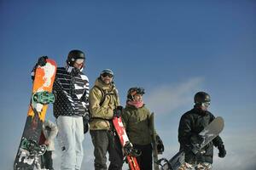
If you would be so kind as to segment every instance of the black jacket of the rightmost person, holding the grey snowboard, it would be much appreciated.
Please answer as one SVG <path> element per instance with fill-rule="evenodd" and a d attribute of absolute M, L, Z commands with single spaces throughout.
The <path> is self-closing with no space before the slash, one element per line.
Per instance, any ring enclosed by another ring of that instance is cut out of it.
<path fill-rule="evenodd" d="M 186 162 L 195 163 L 195 161 L 197 161 L 212 163 L 213 145 L 217 147 L 223 144 L 222 139 L 217 136 L 203 148 L 206 150 L 206 153 L 199 156 L 195 156 L 195 154 L 192 153 L 191 149 L 193 146 L 190 139 L 191 136 L 199 134 L 214 118 L 211 112 L 202 112 L 196 108 L 184 113 L 181 117 L 178 127 L 178 141 L 180 143 L 180 150 L 185 151 Z"/>

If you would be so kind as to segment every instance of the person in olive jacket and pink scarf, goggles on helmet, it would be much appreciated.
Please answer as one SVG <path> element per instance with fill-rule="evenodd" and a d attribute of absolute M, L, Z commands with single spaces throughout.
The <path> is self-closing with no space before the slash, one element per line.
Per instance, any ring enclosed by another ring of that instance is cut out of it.
<path fill-rule="evenodd" d="M 149 117 L 151 115 L 143 102 L 143 88 L 130 88 L 127 92 L 125 109 L 122 113 L 122 121 L 131 144 L 141 155 L 137 156 L 140 169 L 152 170 L 152 133 Z M 158 135 L 156 143 L 158 152 L 164 151 L 164 145 Z"/>

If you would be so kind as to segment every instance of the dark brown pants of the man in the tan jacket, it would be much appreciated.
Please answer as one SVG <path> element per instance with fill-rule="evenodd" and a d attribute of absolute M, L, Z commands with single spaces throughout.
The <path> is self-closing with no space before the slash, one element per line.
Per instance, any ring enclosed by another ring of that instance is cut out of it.
<path fill-rule="evenodd" d="M 121 170 L 123 166 L 123 152 L 118 135 L 108 130 L 90 130 L 94 145 L 95 170 Z M 110 165 L 107 167 L 107 151 Z"/>

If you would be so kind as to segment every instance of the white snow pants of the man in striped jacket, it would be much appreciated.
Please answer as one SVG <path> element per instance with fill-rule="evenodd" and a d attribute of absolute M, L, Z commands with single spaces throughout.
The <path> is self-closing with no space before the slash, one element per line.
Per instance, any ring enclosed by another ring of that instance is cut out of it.
<path fill-rule="evenodd" d="M 58 116 L 57 127 L 57 139 L 61 146 L 61 170 L 79 170 L 84 156 L 83 117 Z"/>

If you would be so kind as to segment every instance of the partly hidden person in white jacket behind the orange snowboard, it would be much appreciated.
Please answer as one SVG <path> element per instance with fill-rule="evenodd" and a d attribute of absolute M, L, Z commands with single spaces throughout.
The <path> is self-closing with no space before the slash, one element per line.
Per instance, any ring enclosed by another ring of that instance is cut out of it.
<path fill-rule="evenodd" d="M 53 170 L 52 151 L 55 150 L 54 139 L 58 133 L 58 127 L 55 123 L 45 120 L 42 127 L 42 133 L 39 139 L 39 144 L 45 144 L 47 150 L 41 156 L 41 168 Z"/>

